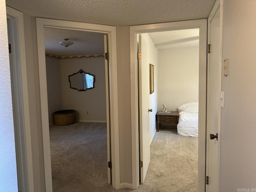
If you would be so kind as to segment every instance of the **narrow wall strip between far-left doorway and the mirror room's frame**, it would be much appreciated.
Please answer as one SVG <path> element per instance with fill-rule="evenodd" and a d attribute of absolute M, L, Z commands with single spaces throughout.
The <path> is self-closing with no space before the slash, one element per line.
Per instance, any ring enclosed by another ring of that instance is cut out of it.
<path fill-rule="evenodd" d="M 23 14 L 34 191 L 45 192 L 36 18 Z"/>

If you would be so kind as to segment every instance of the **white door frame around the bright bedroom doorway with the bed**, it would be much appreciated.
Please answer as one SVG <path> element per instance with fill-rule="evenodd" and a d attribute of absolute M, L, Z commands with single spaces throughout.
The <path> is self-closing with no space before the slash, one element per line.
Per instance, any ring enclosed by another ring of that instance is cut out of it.
<path fill-rule="evenodd" d="M 136 34 L 199 28 L 199 122 L 198 129 L 198 192 L 205 191 L 206 163 L 206 76 L 207 76 L 207 19 L 130 26 L 130 79 L 132 123 L 132 188 L 139 186 L 138 154 L 138 75 Z"/>

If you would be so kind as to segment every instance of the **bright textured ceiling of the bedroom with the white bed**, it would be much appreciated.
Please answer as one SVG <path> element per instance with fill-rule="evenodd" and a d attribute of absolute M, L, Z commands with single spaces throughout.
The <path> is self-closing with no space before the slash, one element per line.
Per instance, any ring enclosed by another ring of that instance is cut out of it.
<path fill-rule="evenodd" d="M 158 50 L 199 46 L 199 29 L 148 33 Z"/>

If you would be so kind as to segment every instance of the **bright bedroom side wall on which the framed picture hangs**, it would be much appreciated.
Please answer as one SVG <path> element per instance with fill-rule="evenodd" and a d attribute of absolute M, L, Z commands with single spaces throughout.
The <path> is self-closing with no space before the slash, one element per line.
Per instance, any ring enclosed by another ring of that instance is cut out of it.
<path fill-rule="evenodd" d="M 149 142 L 152 142 L 154 134 L 156 133 L 156 114 L 158 111 L 158 49 L 148 34 L 142 34 L 141 36 L 148 45 L 148 73 L 145 77 L 147 81 L 149 81 L 149 64 L 154 65 L 154 92 L 149 95 L 149 108 L 152 109 L 152 112 L 149 113 Z"/>

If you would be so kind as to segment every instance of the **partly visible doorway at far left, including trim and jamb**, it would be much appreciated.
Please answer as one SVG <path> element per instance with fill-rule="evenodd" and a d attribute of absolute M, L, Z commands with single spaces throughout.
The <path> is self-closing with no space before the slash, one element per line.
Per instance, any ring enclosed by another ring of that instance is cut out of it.
<path fill-rule="evenodd" d="M 18 190 L 34 190 L 23 14 L 6 6 Z"/>

